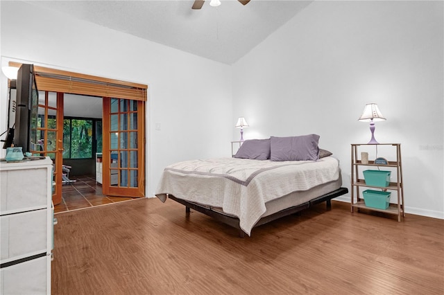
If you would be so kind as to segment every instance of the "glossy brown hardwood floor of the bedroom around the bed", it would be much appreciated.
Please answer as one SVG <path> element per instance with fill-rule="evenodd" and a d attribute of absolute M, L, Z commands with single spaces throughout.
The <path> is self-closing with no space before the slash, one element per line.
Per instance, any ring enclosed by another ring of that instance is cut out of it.
<path fill-rule="evenodd" d="M 319 204 L 252 237 L 167 200 L 58 215 L 52 294 L 443 294 L 444 220 Z"/>

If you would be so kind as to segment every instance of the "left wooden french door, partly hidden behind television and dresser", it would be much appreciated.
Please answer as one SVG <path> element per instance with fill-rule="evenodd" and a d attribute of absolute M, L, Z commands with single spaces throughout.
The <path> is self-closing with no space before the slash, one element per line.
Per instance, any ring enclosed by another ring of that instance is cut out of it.
<path fill-rule="evenodd" d="M 36 142 L 31 152 L 53 161 L 53 204 L 57 205 L 62 202 L 63 93 L 39 91 L 36 114 L 31 127 Z"/>

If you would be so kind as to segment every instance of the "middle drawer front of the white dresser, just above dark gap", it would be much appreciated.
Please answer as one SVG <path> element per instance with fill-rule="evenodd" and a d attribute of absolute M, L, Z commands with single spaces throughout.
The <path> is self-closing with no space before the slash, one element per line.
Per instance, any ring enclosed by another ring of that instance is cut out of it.
<path fill-rule="evenodd" d="M 1 262 L 46 253 L 48 246 L 47 209 L 3 215 L 1 226 Z"/>

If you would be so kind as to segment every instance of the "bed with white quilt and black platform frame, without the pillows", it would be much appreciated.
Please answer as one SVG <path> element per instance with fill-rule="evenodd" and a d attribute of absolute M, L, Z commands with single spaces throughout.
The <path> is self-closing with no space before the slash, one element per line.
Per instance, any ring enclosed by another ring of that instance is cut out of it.
<path fill-rule="evenodd" d="M 268 156 L 174 163 L 164 169 L 155 195 L 185 205 L 187 213 L 191 208 L 234 226 L 244 237 L 255 226 L 314 204 L 330 207 L 331 199 L 348 193 L 341 187 L 339 160 L 317 153 L 317 159 L 302 161 Z"/>

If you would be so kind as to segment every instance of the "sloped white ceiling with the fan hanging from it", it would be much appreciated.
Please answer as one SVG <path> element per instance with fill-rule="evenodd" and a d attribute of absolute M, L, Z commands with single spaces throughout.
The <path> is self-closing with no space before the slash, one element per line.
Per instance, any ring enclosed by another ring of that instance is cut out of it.
<path fill-rule="evenodd" d="M 312 1 L 25 1 L 210 60 L 233 64 Z"/>

